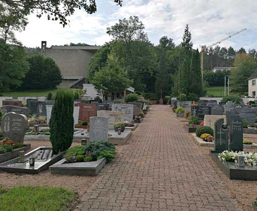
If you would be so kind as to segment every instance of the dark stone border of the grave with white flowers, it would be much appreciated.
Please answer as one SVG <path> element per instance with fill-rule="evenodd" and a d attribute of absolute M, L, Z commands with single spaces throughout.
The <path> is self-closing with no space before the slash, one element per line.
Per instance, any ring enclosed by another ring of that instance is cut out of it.
<path fill-rule="evenodd" d="M 218 158 L 218 152 L 210 151 L 210 156 L 218 167 L 229 179 L 237 180 L 257 180 L 257 167 L 245 166 L 238 167 L 234 162 L 223 162 Z"/>

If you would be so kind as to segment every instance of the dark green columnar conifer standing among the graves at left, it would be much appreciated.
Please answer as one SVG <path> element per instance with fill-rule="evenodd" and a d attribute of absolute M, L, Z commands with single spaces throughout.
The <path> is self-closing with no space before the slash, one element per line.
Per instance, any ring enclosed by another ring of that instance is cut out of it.
<path fill-rule="evenodd" d="M 50 142 L 54 154 L 65 151 L 72 145 L 74 134 L 73 104 L 72 90 L 57 90 L 49 122 Z"/>

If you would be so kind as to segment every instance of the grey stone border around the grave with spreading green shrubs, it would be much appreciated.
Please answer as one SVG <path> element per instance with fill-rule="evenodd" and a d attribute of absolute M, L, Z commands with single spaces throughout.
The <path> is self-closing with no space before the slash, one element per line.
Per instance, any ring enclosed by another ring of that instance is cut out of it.
<path fill-rule="evenodd" d="M 96 176 L 106 164 L 106 158 L 92 162 L 66 163 L 66 158 L 49 167 L 52 174 Z"/>

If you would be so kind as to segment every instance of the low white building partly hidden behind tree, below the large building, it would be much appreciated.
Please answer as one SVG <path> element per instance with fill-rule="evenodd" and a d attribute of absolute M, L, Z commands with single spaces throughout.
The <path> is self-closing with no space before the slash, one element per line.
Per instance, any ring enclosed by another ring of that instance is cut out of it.
<path fill-rule="evenodd" d="M 84 97 L 87 98 L 88 100 L 93 100 L 96 96 L 99 96 L 99 97 L 101 97 L 101 99 L 103 99 L 102 95 L 97 92 L 97 90 L 95 89 L 95 86 L 93 84 L 83 83 L 83 89 L 86 92 L 84 94 Z M 135 88 L 129 87 L 124 91 L 112 93 L 112 96 L 108 97 L 108 99 L 105 99 L 105 100 L 123 99 L 124 94 L 126 95 L 126 94 L 134 93 L 134 92 L 135 92 Z"/>

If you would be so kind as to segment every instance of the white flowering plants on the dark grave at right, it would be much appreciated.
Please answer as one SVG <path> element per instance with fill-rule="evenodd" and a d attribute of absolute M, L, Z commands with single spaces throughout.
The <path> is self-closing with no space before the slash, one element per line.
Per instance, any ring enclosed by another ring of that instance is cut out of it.
<path fill-rule="evenodd" d="M 252 152 L 244 152 L 244 151 L 233 152 L 233 151 L 225 150 L 222 153 L 219 153 L 218 158 L 222 161 L 237 163 L 237 157 L 239 155 L 244 156 L 245 164 L 249 166 L 257 165 L 257 153 L 252 153 Z"/>

